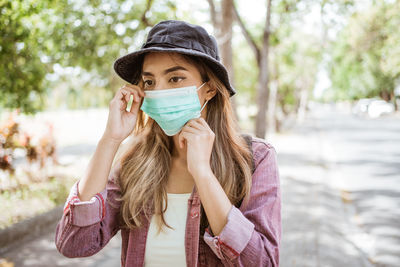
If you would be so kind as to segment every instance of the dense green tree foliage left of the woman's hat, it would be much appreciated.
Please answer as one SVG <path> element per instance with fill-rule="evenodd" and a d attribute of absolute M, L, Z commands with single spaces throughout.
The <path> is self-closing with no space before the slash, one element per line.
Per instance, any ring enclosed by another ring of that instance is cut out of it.
<path fill-rule="evenodd" d="M 107 87 L 114 60 L 137 49 L 148 26 L 174 10 L 171 1 L 1 0 L 0 106 L 26 113 L 45 108 L 46 75 L 55 65 L 79 67 L 92 84 Z"/>

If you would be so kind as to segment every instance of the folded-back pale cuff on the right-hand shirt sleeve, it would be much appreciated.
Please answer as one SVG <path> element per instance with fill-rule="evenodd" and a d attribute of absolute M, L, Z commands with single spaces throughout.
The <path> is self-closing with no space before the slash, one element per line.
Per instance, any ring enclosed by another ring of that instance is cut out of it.
<path fill-rule="evenodd" d="M 254 224 L 234 205 L 228 213 L 228 221 L 218 236 L 206 228 L 204 241 L 219 259 L 233 260 L 247 246 L 254 231 Z"/>

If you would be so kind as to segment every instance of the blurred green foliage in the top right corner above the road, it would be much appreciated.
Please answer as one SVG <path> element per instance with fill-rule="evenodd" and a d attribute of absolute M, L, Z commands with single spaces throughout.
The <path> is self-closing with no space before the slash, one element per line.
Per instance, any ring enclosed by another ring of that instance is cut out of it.
<path fill-rule="evenodd" d="M 376 1 L 355 12 L 332 50 L 335 99 L 380 96 L 391 100 L 400 78 L 400 5 Z"/>

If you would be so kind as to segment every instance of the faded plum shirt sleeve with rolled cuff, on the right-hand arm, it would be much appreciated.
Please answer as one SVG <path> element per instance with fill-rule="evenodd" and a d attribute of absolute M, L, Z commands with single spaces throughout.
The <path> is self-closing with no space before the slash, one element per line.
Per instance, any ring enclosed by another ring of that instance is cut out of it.
<path fill-rule="evenodd" d="M 218 236 L 206 228 L 204 241 L 225 266 L 279 266 L 281 192 L 275 148 L 253 141 L 256 168 L 249 202 L 232 205 Z"/>

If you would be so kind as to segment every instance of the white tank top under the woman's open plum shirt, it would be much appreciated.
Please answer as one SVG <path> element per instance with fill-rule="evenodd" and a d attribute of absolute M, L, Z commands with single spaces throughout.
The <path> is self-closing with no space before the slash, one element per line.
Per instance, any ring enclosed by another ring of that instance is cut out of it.
<path fill-rule="evenodd" d="M 157 235 L 156 216 L 152 216 L 147 234 L 144 266 L 186 267 L 185 230 L 188 199 L 191 193 L 168 195 L 164 219 L 174 229 L 163 225 Z"/>

